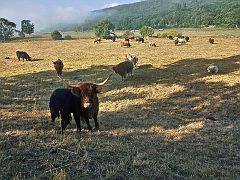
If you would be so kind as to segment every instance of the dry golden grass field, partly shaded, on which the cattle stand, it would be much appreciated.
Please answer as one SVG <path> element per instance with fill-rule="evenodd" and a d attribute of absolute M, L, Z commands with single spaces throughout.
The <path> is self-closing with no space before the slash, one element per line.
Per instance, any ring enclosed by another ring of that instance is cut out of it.
<path fill-rule="evenodd" d="M 81 38 L 1 43 L 0 179 L 239 179 L 240 36 L 189 34 L 182 46 L 155 38 L 157 47 Z M 16 50 L 33 60 L 18 61 Z M 48 103 L 64 85 L 51 61 L 63 60 L 67 81 L 101 82 L 127 53 L 139 63 L 99 95 L 100 131 L 77 134 L 73 121 L 58 134 Z M 207 73 L 211 64 L 218 74 Z"/>

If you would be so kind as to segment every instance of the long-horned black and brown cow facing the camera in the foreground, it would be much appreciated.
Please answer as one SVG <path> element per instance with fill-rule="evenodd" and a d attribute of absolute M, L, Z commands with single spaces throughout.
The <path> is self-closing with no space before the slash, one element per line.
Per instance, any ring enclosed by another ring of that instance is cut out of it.
<path fill-rule="evenodd" d="M 99 84 L 80 82 L 77 84 L 68 84 L 59 77 L 68 88 L 56 89 L 50 97 L 50 112 L 52 122 L 61 115 L 61 133 L 70 124 L 71 113 L 77 125 L 77 131 L 81 132 L 80 117 L 83 117 L 87 123 L 88 130 L 92 130 L 89 119 L 94 119 L 95 128 L 99 129 L 97 121 L 99 111 L 99 101 L 97 94 L 102 92 L 102 86 L 108 81 L 108 78 Z M 59 115 L 60 113 L 60 115 Z"/>

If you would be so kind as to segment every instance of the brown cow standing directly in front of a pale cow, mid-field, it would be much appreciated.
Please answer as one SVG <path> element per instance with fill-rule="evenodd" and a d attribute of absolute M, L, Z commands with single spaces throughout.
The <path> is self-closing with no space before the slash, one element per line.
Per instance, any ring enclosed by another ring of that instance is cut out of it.
<path fill-rule="evenodd" d="M 126 78 L 127 74 L 133 71 L 133 63 L 131 61 L 123 61 L 118 65 L 113 67 L 113 70 L 116 74 L 122 76 L 122 81 Z"/>

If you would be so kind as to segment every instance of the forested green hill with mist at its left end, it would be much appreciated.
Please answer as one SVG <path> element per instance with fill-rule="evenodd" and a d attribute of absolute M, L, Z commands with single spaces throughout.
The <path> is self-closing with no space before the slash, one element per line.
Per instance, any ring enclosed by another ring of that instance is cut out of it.
<path fill-rule="evenodd" d="M 240 0 L 145 0 L 93 11 L 84 25 L 91 29 L 96 21 L 108 18 L 116 29 L 202 27 L 209 25 L 240 27 Z"/>

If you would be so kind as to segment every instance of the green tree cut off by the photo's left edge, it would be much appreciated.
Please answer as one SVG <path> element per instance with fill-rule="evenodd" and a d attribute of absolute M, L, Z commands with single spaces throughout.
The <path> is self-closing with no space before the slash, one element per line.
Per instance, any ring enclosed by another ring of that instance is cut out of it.
<path fill-rule="evenodd" d="M 0 40 L 10 39 L 16 29 L 16 24 L 14 22 L 8 21 L 5 18 L 0 18 Z"/>

